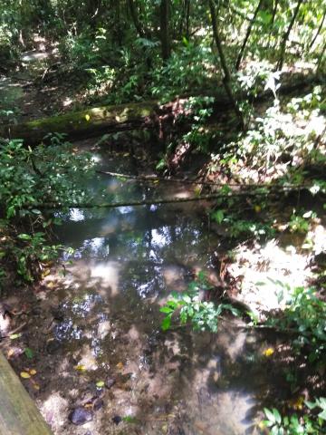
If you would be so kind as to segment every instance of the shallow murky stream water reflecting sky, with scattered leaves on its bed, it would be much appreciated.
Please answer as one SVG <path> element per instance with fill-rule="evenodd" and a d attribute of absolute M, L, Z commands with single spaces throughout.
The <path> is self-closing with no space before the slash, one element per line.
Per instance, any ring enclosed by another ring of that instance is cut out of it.
<path fill-rule="evenodd" d="M 132 170 L 123 156 L 100 156 L 99 165 Z M 98 183 L 115 201 L 194 195 L 166 183 L 145 187 L 108 176 Z M 264 340 L 230 319 L 217 334 L 160 330 L 169 293 L 185 290 L 198 270 L 214 273 L 221 240 L 209 232 L 205 207 L 72 209 L 65 218 L 58 237 L 73 252 L 62 256 L 65 275 L 47 278 L 58 302 L 52 333 L 60 351 L 51 352 L 42 411 L 55 433 L 258 433 L 257 411 L 274 376 L 259 362 Z M 108 377 L 115 384 L 97 389 L 104 406 L 95 419 L 82 428 L 67 424 L 67 408 Z M 117 416 L 134 421 L 116 426 Z"/>

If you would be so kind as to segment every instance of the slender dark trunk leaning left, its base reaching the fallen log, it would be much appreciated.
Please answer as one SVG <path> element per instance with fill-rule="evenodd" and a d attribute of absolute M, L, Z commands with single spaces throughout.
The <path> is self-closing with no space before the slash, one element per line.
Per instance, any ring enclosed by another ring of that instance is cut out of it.
<path fill-rule="evenodd" d="M 245 128 L 245 120 L 244 120 L 243 114 L 239 110 L 237 102 L 235 101 L 235 96 L 234 96 L 232 89 L 231 89 L 231 73 L 229 72 L 229 69 L 228 69 L 228 66 L 227 66 L 227 63 L 225 60 L 225 54 L 224 54 L 224 51 L 222 48 L 222 43 L 221 43 L 220 35 L 218 32 L 215 5 L 214 5 L 213 0 L 208 0 L 208 3 L 209 3 L 211 19 L 212 19 L 213 35 L 214 35 L 214 39 L 216 42 L 217 52 L 219 54 L 219 58 L 220 58 L 220 62 L 221 62 L 221 66 L 222 66 L 222 70 L 223 70 L 223 74 L 224 74 L 223 84 L 225 87 L 225 92 L 228 95 L 229 100 L 234 107 L 235 114 L 240 121 L 241 127 L 244 129 Z"/>

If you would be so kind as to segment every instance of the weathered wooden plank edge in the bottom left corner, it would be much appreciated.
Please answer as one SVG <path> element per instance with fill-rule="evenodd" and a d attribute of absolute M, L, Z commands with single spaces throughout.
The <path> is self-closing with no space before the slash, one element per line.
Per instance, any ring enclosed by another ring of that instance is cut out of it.
<path fill-rule="evenodd" d="M 0 435 L 51 435 L 34 401 L 0 352 Z"/>

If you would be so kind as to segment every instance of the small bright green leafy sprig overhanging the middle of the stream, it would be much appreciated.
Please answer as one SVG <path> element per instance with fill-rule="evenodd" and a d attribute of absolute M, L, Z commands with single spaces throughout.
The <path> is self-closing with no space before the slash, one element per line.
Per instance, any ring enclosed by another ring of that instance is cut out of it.
<path fill-rule="evenodd" d="M 172 316 L 177 313 L 180 324 L 191 322 L 195 331 L 217 332 L 218 321 L 225 312 L 239 315 L 238 310 L 231 304 L 214 304 L 203 300 L 203 295 L 212 290 L 204 273 L 197 275 L 197 280 L 188 285 L 187 292 L 178 294 L 174 292 L 172 297 L 160 309 L 161 313 L 166 314 L 162 321 L 163 331 L 167 331 L 171 326 Z"/>

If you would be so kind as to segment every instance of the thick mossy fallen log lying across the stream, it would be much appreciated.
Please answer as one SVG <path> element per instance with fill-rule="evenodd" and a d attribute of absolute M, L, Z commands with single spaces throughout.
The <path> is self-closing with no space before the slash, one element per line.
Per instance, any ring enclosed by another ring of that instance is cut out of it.
<path fill-rule="evenodd" d="M 289 80 L 291 78 L 293 80 Z M 312 88 L 314 84 L 322 82 L 324 82 L 324 76 L 316 74 L 307 76 L 289 74 L 289 76 L 285 75 L 283 85 L 277 92 L 283 95 L 296 91 L 302 92 L 304 89 Z M 49 133 L 66 134 L 67 140 L 88 139 L 103 133 L 140 128 L 156 129 L 161 133 L 165 126 L 174 121 L 179 114 L 189 114 L 189 110 L 185 109 L 185 103 L 189 97 L 193 96 L 199 96 L 199 92 L 183 95 L 164 105 L 159 105 L 158 102 L 153 101 L 132 102 L 73 111 L 16 125 L 0 126 L 0 138 L 22 139 L 26 144 L 34 145 L 40 143 Z M 213 104 L 215 113 L 228 111 L 232 106 L 225 92 L 218 86 L 214 92 L 202 92 L 200 96 L 215 98 Z M 235 95 L 238 102 L 247 99 L 250 102 L 259 103 L 271 98 L 273 98 L 271 90 L 262 90 L 254 97 L 248 97 L 244 92 Z M 160 134 L 160 136 L 164 135 Z"/>

